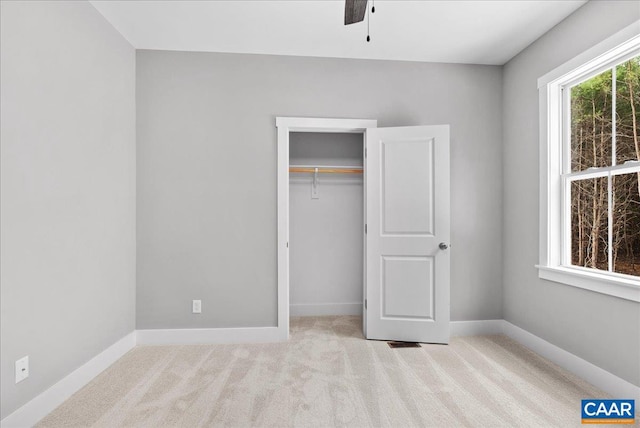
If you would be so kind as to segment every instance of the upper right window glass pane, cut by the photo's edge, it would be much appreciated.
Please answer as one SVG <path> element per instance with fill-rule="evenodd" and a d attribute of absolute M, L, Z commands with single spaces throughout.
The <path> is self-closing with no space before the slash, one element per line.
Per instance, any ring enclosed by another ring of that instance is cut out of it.
<path fill-rule="evenodd" d="M 616 67 L 616 162 L 640 160 L 640 56 Z"/>

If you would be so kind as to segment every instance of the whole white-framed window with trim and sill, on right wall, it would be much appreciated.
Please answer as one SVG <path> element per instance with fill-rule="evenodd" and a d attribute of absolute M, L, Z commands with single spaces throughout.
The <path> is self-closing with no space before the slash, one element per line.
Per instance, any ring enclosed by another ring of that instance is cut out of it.
<path fill-rule="evenodd" d="M 640 302 L 640 35 L 634 26 L 539 80 L 538 268 L 543 279 Z"/>

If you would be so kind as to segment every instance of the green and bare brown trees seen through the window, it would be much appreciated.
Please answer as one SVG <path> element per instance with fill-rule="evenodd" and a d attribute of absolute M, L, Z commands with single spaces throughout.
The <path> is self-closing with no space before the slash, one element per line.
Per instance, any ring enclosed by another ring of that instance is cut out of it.
<path fill-rule="evenodd" d="M 565 90 L 567 259 L 573 266 L 640 276 L 640 56 Z"/>

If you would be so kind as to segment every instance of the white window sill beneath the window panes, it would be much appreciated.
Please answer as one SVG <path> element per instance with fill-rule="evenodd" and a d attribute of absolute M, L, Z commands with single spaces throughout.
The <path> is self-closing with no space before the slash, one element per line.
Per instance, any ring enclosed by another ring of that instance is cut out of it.
<path fill-rule="evenodd" d="M 640 279 L 564 266 L 536 266 L 538 277 L 633 302 L 640 302 Z"/>

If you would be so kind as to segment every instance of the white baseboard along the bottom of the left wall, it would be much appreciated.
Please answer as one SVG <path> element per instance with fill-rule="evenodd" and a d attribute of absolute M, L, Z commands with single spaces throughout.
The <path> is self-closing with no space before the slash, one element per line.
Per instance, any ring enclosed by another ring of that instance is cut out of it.
<path fill-rule="evenodd" d="M 0 421 L 1 427 L 31 427 L 51 413 L 80 388 L 91 382 L 107 367 L 136 346 L 136 332 L 127 334 L 113 345 L 62 378 L 52 387 Z"/>

